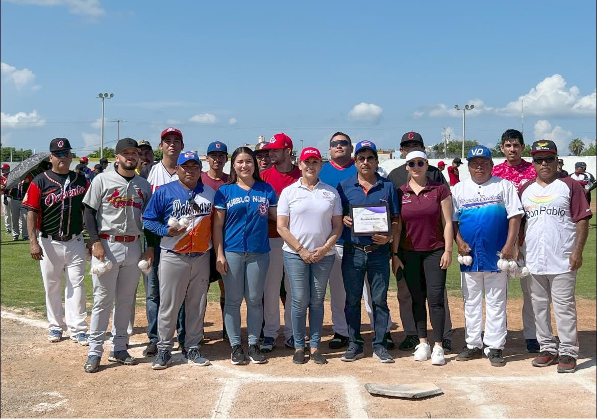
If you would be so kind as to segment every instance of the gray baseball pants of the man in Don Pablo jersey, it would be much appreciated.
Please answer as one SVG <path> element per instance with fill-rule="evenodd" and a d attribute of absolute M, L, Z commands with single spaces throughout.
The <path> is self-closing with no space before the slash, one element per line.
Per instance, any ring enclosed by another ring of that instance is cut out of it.
<path fill-rule="evenodd" d="M 531 274 L 531 300 L 535 312 L 535 326 L 537 340 L 541 352 L 559 353 L 578 359 L 578 330 L 576 315 L 576 271 L 560 273 L 558 275 Z M 553 303 L 553 314 L 558 328 L 558 341 L 553 336 L 551 324 L 552 315 L 549 300 Z"/>

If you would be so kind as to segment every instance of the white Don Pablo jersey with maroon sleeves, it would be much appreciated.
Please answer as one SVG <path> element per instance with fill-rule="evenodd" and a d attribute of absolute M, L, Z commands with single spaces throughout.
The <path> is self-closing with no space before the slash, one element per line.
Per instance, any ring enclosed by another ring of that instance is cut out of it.
<path fill-rule="evenodd" d="M 546 187 L 537 180 L 522 186 L 521 201 L 527 222 L 527 268 L 537 275 L 570 272 L 570 255 L 576 241 L 576 223 L 591 217 L 580 183 L 570 177 Z"/>

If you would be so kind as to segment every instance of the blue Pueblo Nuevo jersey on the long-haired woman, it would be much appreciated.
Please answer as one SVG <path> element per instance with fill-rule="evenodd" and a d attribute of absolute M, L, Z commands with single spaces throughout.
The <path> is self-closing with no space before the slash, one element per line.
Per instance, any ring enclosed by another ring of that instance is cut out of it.
<path fill-rule="evenodd" d="M 237 184 L 220 186 L 214 205 L 226 211 L 224 251 L 269 252 L 267 215 L 278 205 L 278 196 L 269 183 L 256 181 L 249 190 Z"/>

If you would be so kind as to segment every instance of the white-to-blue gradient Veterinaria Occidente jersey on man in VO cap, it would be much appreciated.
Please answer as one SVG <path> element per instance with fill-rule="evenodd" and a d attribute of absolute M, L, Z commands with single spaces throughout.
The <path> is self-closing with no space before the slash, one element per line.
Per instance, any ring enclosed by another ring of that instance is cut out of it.
<path fill-rule="evenodd" d="M 466 179 L 452 187 L 452 202 L 453 220 L 473 257 L 472 266 L 460 265 L 460 271 L 499 272 L 497 253 L 506 244 L 509 220 L 524 214 L 516 188 L 496 176 L 480 185 Z"/>

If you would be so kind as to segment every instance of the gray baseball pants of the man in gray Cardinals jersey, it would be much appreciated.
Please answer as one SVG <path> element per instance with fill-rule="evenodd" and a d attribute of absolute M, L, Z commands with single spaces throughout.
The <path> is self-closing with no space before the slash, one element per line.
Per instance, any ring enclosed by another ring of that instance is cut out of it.
<path fill-rule="evenodd" d="M 112 340 L 111 350 L 117 352 L 127 349 L 127 327 L 141 276 L 141 270 L 137 266 L 141 258 L 141 242 L 139 240 L 130 243 L 110 243 L 106 239 L 101 239 L 101 244 L 106 251 L 106 258 L 110 259 L 114 266 L 103 275 L 91 276 L 93 279 L 93 310 L 91 310 L 88 355 L 97 356 L 101 356 L 104 352 L 103 343 L 112 306 L 114 306 L 116 334 Z M 92 265 L 94 263 L 97 263 L 95 257 L 91 261 Z"/>

